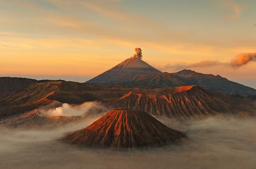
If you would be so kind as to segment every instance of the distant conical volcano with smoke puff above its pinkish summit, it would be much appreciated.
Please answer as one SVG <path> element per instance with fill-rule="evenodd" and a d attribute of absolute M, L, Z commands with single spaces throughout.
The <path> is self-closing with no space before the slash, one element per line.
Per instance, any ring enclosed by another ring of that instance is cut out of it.
<path fill-rule="evenodd" d="M 94 77 L 86 83 L 124 83 L 141 74 L 157 73 L 161 72 L 150 66 L 148 63 L 145 63 L 143 60 L 134 57 L 126 59 L 122 63 L 119 63 L 112 69 Z"/>

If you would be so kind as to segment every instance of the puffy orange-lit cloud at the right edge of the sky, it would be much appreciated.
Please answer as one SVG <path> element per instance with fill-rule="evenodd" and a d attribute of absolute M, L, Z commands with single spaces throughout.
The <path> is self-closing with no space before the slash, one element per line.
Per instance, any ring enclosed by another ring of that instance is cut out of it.
<path fill-rule="evenodd" d="M 230 66 L 236 69 L 243 65 L 246 65 L 253 60 L 256 60 L 256 53 L 241 53 L 238 54 L 234 59 L 231 59 Z"/>

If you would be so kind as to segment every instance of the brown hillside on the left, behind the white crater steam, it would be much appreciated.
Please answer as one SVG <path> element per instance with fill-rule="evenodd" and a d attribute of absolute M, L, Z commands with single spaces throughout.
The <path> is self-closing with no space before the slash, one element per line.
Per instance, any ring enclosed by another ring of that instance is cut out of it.
<path fill-rule="evenodd" d="M 6 79 L 8 80 L 8 79 Z M 21 80 L 23 80 L 21 78 Z M 89 84 L 66 81 L 35 83 L 12 95 L 0 98 L 0 119 L 29 112 L 53 103 L 81 104 L 88 101 L 113 101 L 130 91 L 144 92 L 147 86 L 120 84 Z"/>

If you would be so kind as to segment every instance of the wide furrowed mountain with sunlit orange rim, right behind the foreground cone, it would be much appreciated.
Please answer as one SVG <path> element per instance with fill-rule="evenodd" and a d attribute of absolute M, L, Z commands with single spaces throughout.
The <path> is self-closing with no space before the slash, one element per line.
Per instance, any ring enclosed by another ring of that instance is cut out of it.
<path fill-rule="evenodd" d="M 165 94 L 129 92 L 119 100 L 105 103 L 105 106 L 109 109 L 134 109 L 152 115 L 166 115 L 168 118 L 181 121 L 198 120 L 221 114 L 238 115 L 243 112 L 250 112 L 250 115 L 254 116 L 256 113 L 254 103 L 207 91 L 198 86 L 182 88 L 184 90 L 177 87 L 177 92 L 166 92 Z"/>

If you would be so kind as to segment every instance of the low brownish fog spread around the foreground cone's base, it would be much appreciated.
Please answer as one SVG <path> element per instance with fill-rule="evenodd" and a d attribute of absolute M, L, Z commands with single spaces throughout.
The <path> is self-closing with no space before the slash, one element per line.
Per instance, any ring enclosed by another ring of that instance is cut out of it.
<path fill-rule="evenodd" d="M 191 124 L 159 119 L 186 132 L 190 140 L 182 146 L 149 150 L 102 150 L 77 148 L 56 141 L 96 119 L 47 131 L 0 131 L 0 168 L 7 169 L 255 169 L 256 120 L 209 118 Z"/>

